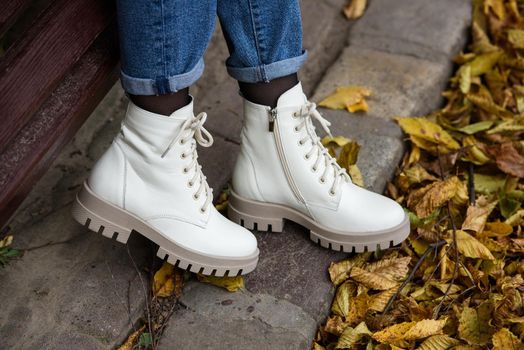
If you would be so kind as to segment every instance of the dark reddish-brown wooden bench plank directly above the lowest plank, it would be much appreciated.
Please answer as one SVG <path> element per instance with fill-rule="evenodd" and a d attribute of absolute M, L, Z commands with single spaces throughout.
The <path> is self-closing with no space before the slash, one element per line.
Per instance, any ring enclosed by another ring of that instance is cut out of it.
<path fill-rule="evenodd" d="M 57 0 L 0 62 L 0 151 L 114 17 L 112 1 Z"/>

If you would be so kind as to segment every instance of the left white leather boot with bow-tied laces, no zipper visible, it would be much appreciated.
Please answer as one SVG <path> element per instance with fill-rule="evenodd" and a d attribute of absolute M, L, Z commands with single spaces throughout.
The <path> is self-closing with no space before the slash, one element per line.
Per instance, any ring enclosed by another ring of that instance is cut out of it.
<path fill-rule="evenodd" d="M 135 230 L 182 269 L 217 276 L 245 274 L 258 261 L 256 238 L 223 217 L 197 162 L 209 147 L 206 114 L 193 103 L 161 116 L 129 103 L 122 129 L 95 164 L 73 206 L 75 219 L 127 242 Z"/>

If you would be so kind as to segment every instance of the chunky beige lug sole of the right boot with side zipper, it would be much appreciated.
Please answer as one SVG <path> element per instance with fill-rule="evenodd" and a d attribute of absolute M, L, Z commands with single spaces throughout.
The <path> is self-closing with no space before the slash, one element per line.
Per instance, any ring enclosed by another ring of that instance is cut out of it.
<path fill-rule="evenodd" d="M 402 243 L 410 232 L 407 215 L 402 223 L 388 230 L 347 233 L 322 226 L 293 208 L 242 198 L 234 191 L 231 191 L 229 197 L 228 216 L 245 228 L 273 232 L 282 232 L 284 220 L 290 220 L 306 227 L 313 242 L 324 248 L 347 253 L 387 249 Z"/>

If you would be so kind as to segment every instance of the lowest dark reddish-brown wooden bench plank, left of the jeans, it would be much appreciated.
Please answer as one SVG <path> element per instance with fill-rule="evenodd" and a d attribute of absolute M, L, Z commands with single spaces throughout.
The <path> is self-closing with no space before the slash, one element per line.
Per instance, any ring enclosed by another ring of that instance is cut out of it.
<path fill-rule="evenodd" d="M 0 227 L 118 78 L 116 26 L 111 26 L 0 154 Z"/>

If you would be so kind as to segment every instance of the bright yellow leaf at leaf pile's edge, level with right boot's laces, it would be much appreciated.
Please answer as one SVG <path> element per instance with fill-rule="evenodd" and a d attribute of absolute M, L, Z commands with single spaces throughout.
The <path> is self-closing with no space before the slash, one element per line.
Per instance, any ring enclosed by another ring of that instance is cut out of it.
<path fill-rule="evenodd" d="M 395 118 L 411 141 L 433 154 L 449 153 L 460 148 L 460 144 L 442 127 L 426 118 Z"/>

